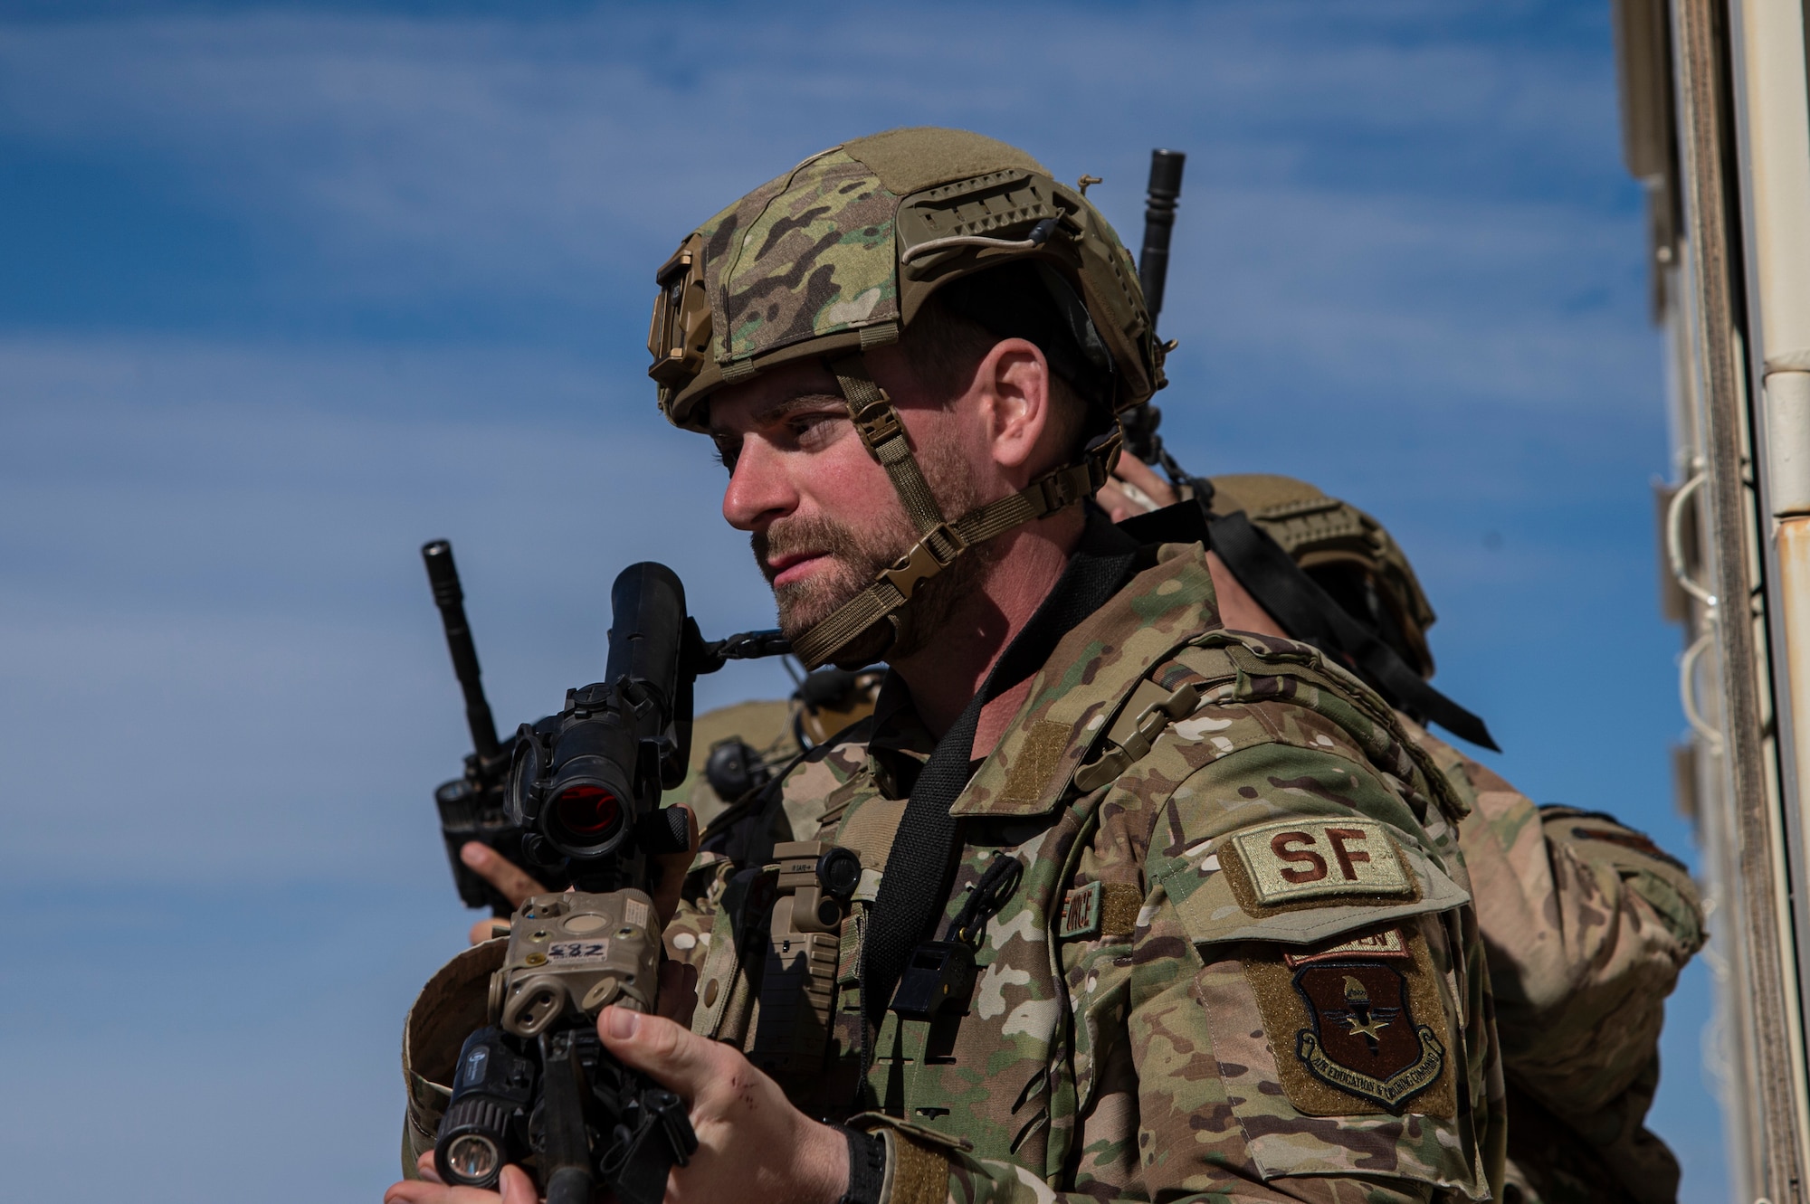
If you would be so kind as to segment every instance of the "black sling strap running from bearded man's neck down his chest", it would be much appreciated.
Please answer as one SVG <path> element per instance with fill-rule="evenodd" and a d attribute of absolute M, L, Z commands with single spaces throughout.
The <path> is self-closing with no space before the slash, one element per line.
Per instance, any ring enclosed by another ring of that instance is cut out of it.
<path fill-rule="evenodd" d="M 1119 593 L 1135 560 L 1137 542 L 1090 504 L 1088 528 L 1055 589 L 994 663 L 986 683 L 936 741 L 936 750 L 918 774 L 862 940 L 862 1007 L 867 1014 L 858 1088 L 862 1097 L 869 1094 L 872 1039 L 892 991 L 912 949 L 927 936 L 948 898 L 957 828 L 948 808 L 961 797 L 974 772 L 974 729 L 981 709 L 1043 669 L 1062 636 Z"/>

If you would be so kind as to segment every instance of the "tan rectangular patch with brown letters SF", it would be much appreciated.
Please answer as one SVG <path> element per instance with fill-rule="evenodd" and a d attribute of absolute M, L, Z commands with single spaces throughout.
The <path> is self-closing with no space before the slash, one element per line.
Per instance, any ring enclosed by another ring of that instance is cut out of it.
<path fill-rule="evenodd" d="M 1365 819 L 1260 824 L 1236 833 L 1233 848 L 1265 908 L 1327 895 L 1414 893 L 1396 841 Z"/>

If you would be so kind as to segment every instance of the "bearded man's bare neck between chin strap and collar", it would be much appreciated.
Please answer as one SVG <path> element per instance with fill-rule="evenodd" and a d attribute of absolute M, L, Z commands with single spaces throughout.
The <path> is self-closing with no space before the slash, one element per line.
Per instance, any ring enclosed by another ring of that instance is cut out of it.
<path fill-rule="evenodd" d="M 936 638 L 919 653 L 892 663 L 910 687 L 918 718 L 941 736 L 967 709 L 1043 600 L 1050 597 L 1068 559 L 1081 542 L 1086 517 L 1072 506 L 1039 522 L 999 537 L 1003 544 L 981 588 L 963 598 Z M 1024 696 L 1032 678 L 999 694 L 981 710 L 974 732 L 974 756 L 994 750 Z"/>

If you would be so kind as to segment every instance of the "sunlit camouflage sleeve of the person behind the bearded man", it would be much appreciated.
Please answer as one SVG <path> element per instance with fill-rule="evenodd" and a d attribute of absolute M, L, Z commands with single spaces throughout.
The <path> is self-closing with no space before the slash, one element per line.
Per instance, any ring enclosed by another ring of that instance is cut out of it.
<path fill-rule="evenodd" d="M 1703 944 L 1685 866 L 1609 815 L 1537 808 L 1406 725 L 1470 803 L 1477 891 L 1510 1077 L 1510 1180 L 1529 1200 L 1671 1200 L 1678 1161 L 1643 1128 L 1663 1000 Z"/>

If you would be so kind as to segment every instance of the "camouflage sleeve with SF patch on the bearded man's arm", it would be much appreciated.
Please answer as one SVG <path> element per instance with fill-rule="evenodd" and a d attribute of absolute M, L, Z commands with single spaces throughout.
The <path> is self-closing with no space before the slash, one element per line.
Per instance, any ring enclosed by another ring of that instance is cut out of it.
<path fill-rule="evenodd" d="M 1233 727 L 1196 720 L 1182 739 Z M 874 1117 L 892 1204 L 1488 1199 L 1468 895 L 1348 738 L 1325 745 L 1236 747 L 1180 776 L 1153 756 L 1120 777 L 1075 877 L 1119 929 L 1059 951 L 1077 1166 L 1052 1184 Z"/>

